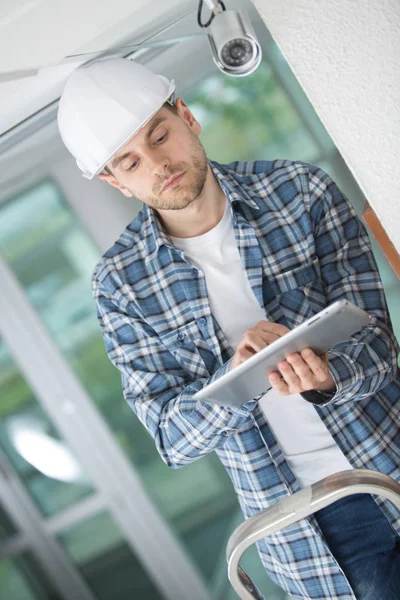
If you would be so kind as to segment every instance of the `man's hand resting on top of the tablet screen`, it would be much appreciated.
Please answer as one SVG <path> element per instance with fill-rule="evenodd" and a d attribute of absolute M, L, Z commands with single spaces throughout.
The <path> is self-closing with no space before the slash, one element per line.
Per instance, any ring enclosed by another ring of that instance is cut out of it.
<path fill-rule="evenodd" d="M 254 327 L 248 329 L 233 355 L 231 369 L 256 354 L 275 340 L 279 339 L 290 329 L 278 323 L 259 321 Z"/>

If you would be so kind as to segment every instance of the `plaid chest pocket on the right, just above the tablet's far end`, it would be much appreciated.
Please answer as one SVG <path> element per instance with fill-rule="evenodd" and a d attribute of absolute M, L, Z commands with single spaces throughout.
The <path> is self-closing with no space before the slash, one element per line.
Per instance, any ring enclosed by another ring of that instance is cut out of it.
<path fill-rule="evenodd" d="M 268 314 L 293 329 L 326 306 L 318 259 L 271 277 Z M 272 291 L 272 294 L 271 294 Z M 280 318 L 276 316 L 280 315 Z"/>

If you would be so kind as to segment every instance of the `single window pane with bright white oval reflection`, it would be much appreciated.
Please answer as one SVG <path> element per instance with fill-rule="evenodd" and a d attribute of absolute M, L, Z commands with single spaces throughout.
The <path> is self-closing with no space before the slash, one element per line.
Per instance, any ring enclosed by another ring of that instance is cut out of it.
<path fill-rule="evenodd" d="M 0 446 L 44 515 L 93 490 L 0 339 Z"/>

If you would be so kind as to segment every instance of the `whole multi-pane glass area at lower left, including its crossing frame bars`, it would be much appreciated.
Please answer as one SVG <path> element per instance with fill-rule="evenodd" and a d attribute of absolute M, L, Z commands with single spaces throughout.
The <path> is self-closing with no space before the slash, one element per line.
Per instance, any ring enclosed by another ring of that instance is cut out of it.
<path fill-rule="evenodd" d="M 162 600 L 0 339 L 0 600 Z"/>

